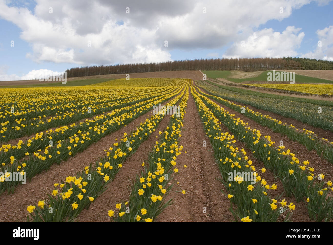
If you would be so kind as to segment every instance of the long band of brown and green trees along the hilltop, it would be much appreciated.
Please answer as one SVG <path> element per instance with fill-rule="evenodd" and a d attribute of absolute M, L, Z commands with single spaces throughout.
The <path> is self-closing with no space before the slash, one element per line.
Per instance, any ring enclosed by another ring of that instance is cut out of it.
<path fill-rule="evenodd" d="M 241 58 L 195 59 L 160 63 L 137 63 L 109 66 L 82 66 L 66 70 L 67 77 L 83 77 L 107 74 L 127 74 L 154 71 L 180 70 L 333 70 L 333 61 L 307 58 Z"/>

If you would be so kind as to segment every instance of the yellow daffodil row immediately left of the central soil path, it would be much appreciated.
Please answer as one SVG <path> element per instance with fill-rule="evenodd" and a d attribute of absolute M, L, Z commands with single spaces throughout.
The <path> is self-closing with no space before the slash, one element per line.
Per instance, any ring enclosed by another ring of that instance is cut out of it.
<path fill-rule="evenodd" d="M 156 141 L 155 148 L 149 153 L 145 170 L 132 184 L 129 200 L 116 204 L 118 214 L 110 209 L 111 220 L 117 222 L 152 222 L 170 204 L 166 197 L 172 188 L 168 185 L 172 175 L 178 172 L 176 158 L 181 154 L 182 146 L 178 145 L 181 137 L 182 121 L 187 105 L 188 87 L 180 106 L 180 114 L 173 114 L 164 132 L 160 131 L 160 141 Z M 148 166 L 147 166 L 148 165 Z M 180 191 L 185 194 L 185 190 Z"/>

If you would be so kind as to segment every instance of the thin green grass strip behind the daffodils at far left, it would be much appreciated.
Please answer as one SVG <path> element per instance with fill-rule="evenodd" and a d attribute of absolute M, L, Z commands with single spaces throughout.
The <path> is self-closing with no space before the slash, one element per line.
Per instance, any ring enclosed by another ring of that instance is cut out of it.
<path fill-rule="evenodd" d="M 0 88 L 34 88 L 34 87 L 75 87 L 75 86 L 85 86 L 96 83 L 103 83 L 107 81 L 111 81 L 114 79 L 110 78 L 93 78 L 93 79 L 83 79 L 83 80 L 74 80 L 67 81 L 66 84 L 62 84 L 61 82 L 56 83 L 41 83 L 41 84 L 30 84 L 30 85 L 18 85 L 18 86 L 0 86 Z"/>

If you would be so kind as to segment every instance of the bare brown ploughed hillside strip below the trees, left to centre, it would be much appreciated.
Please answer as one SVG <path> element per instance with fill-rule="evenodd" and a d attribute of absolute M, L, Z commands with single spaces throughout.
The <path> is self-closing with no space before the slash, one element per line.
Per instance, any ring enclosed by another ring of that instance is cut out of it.
<path fill-rule="evenodd" d="M 202 74 L 199 71 L 155 71 L 155 72 L 140 72 L 130 73 L 131 78 L 191 78 L 202 79 Z M 110 78 L 119 79 L 126 78 L 126 74 L 108 74 L 108 75 L 96 75 L 85 77 L 68 77 L 67 81 L 85 80 L 92 78 Z M 52 82 L 44 82 L 37 80 L 18 80 L 18 81 L 0 81 L 0 86 L 20 86 L 31 84 L 45 84 Z M 58 83 L 58 82 L 55 82 Z"/>

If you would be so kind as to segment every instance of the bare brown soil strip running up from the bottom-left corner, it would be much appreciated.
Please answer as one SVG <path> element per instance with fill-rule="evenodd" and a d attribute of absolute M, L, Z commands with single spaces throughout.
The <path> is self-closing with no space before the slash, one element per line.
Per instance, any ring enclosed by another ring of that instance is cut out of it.
<path fill-rule="evenodd" d="M 172 100 L 172 98 L 170 99 Z M 170 101 L 169 100 L 169 101 Z M 165 105 L 167 102 L 163 103 Z M 69 158 L 60 165 L 53 164 L 47 172 L 33 177 L 31 182 L 19 185 L 13 194 L 7 195 L 3 193 L 0 198 L 0 222 L 24 222 L 27 217 L 27 206 L 36 205 L 38 201 L 47 200 L 47 194 L 53 190 L 54 183 L 59 183 L 67 176 L 73 176 L 77 172 L 82 171 L 90 162 L 95 162 L 105 154 L 104 149 L 108 149 L 115 138 L 121 139 L 126 131 L 129 133 L 135 130 L 146 118 L 153 115 L 152 111 L 139 116 L 137 119 L 129 123 L 126 127 L 105 136 L 97 143 L 90 145 L 83 152 L 77 153 L 74 157 Z M 133 156 L 132 156 L 133 157 Z M 70 167 L 69 167 L 70 166 Z M 126 165 L 124 165 L 126 166 Z M 97 199 L 98 200 L 98 199 Z"/>

